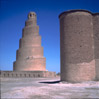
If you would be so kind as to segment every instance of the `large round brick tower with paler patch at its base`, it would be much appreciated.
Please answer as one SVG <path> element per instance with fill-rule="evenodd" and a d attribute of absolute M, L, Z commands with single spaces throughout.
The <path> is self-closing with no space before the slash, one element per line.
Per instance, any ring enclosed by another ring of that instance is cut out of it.
<path fill-rule="evenodd" d="M 59 15 L 61 81 L 81 82 L 95 78 L 92 14 L 71 10 Z"/>

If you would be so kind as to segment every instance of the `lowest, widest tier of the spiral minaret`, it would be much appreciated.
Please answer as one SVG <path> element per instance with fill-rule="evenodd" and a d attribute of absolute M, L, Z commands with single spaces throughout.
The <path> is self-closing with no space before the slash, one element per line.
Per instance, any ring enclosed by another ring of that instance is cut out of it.
<path fill-rule="evenodd" d="M 46 58 L 17 60 L 14 62 L 14 71 L 46 71 Z"/>

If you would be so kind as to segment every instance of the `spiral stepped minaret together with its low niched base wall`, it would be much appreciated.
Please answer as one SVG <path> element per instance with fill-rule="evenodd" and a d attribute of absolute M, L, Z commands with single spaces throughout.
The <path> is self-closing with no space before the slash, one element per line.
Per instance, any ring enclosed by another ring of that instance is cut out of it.
<path fill-rule="evenodd" d="M 55 72 L 46 70 L 46 58 L 43 57 L 41 36 L 35 12 L 28 14 L 28 20 L 23 28 L 19 49 L 16 51 L 16 61 L 13 71 L 0 71 L 1 77 L 56 77 Z"/>

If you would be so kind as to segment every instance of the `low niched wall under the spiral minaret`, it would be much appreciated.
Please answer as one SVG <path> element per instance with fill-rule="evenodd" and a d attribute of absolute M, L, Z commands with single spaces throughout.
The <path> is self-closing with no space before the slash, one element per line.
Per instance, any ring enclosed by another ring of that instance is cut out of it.
<path fill-rule="evenodd" d="M 49 71 L 0 71 L 0 77 L 56 77 L 56 73 Z"/>

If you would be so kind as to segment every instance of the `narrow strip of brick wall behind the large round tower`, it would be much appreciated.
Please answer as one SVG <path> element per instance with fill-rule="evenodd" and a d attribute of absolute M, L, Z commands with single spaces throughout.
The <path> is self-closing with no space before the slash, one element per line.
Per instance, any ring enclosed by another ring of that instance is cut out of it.
<path fill-rule="evenodd" d="M 99 13 L 93 14 L 96 80 L 99 80 Z"/>

